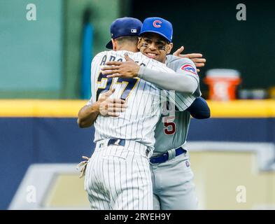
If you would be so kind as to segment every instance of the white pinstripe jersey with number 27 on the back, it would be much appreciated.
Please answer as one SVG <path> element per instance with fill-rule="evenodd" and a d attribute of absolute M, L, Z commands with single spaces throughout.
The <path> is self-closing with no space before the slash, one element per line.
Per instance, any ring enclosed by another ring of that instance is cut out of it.
<path fill-rule="evenodd" d="M 97 54 L 91 65 L 92 99 L 87 105 L 96 102 L 102 91 L 115 89 L 111 98 L 125 99 L 127 109 L 118 118 L 99 115 L 94 123 L 94 142 L 102 139 L 132 139 L 149 147 L 155 144 L 155 125 L 162 113 L 161 90 L 152 83 L 140 78 L 106 78 L 100 73 L 100 67 L 108 61 L 125 61 L 124 54 L 141 66 L 157 71 L 173 73 L 165 64 L 141 54 L 141 52 L 104 51 Z M 185 110 L 188 106 L 185 98 L 176 94 L 176 106 Z"/>

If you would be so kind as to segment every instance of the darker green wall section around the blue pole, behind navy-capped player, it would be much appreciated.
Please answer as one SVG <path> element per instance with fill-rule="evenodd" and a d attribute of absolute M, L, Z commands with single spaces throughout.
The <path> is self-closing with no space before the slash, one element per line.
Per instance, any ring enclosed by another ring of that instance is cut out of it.
<path fill-rule="evenodd" d="M 94 27 L 94 43 L 92 56 L 102 50 L 110 39 L 110 25 L 120 17 L 120 0 L 68 0 L 65 1 L 65 52 L 63 98 L 80 97 L 80 64 L 83 15 L 90 9 L 90 22 Z"/>

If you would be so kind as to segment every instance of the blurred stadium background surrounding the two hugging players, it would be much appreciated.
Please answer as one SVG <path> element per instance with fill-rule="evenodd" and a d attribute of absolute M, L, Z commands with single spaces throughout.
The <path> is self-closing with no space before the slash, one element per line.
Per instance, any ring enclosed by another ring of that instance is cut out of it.
<path fill-rule="evenodd" d="M 211 118 L 188 134 L 199 209 L 275 209 L 274 13 L 266 0 L 0 0 L 0 209 L 89 209 L 76 164 L 94 129 L 76 117 L 124 16 L 169 20 L 174 50 L 207 60 Z"/>

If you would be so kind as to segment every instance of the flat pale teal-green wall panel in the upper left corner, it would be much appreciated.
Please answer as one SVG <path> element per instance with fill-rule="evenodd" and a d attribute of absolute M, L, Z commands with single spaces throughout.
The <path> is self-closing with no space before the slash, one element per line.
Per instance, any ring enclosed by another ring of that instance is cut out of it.
<path fill-rule="evenodd" d="M 26 18 L 28 3 L 36 5 L 36 21 Z M 57 97 L 62 87 L 62 0 L 1 0 L 0 49 L 0 97 L 29 98 L 40 92 Z"/>

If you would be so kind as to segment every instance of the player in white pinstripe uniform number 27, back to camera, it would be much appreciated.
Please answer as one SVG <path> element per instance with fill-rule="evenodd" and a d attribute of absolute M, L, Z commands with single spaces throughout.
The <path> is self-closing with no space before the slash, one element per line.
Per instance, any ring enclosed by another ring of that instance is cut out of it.
<path fill-rule="evenodd" d="M 121 29 L 116 27 L 118 25 Z M 94 57 L 91 71 L 92 100 L 80 110 L 78 124 L 91 125 L 90 115 L 93 111 L 90 111 L 90 104 L 96 103 L 104 91 L 115 89 L 110 98 L 120 99 L 121 104 L 122 101 L 127 101 L 127 109 L 116 118 L 101 114 L 97 116 L 94 123 L 96 148 L 87 165 L 85 189 L 92 209 L 153 209 L 148 158 L 153 153 L 155 125 L 162 112 L 161 90 L 141 78 L 106 77 L 101 73 L 101 66 L 109 61 L 121 62 L 124 60 L 124 50 L 130 50 L 127 52 L 129 57 L 140 66 L 158 71 L 162 75 L 174 76 L 181 83 L 188 78 L 183 78 L 184 76 L 174 73 L 164 64 L 149 59 L 140 52 L 131 52 L 137 51 L 133 48 L 136 43 L 128 41 L 127 37 L 120 37 L 132 36 L 133 33 L 136 35 L 141 28 L 139 20 L 122 18 L 115 20 L 112 27 L 112 43 L 116 51 L 101 52 Z M 197 89 L 197 81 L 190 86 L 174 85 L 173 82 L 157 84 L 168 90 L 181 90 L 185 94 L 192 94 Z M 186 97 L 183 94 L 172 97 L 181 111 L 192 104 L 192 100 L 185 102 Z"/>

